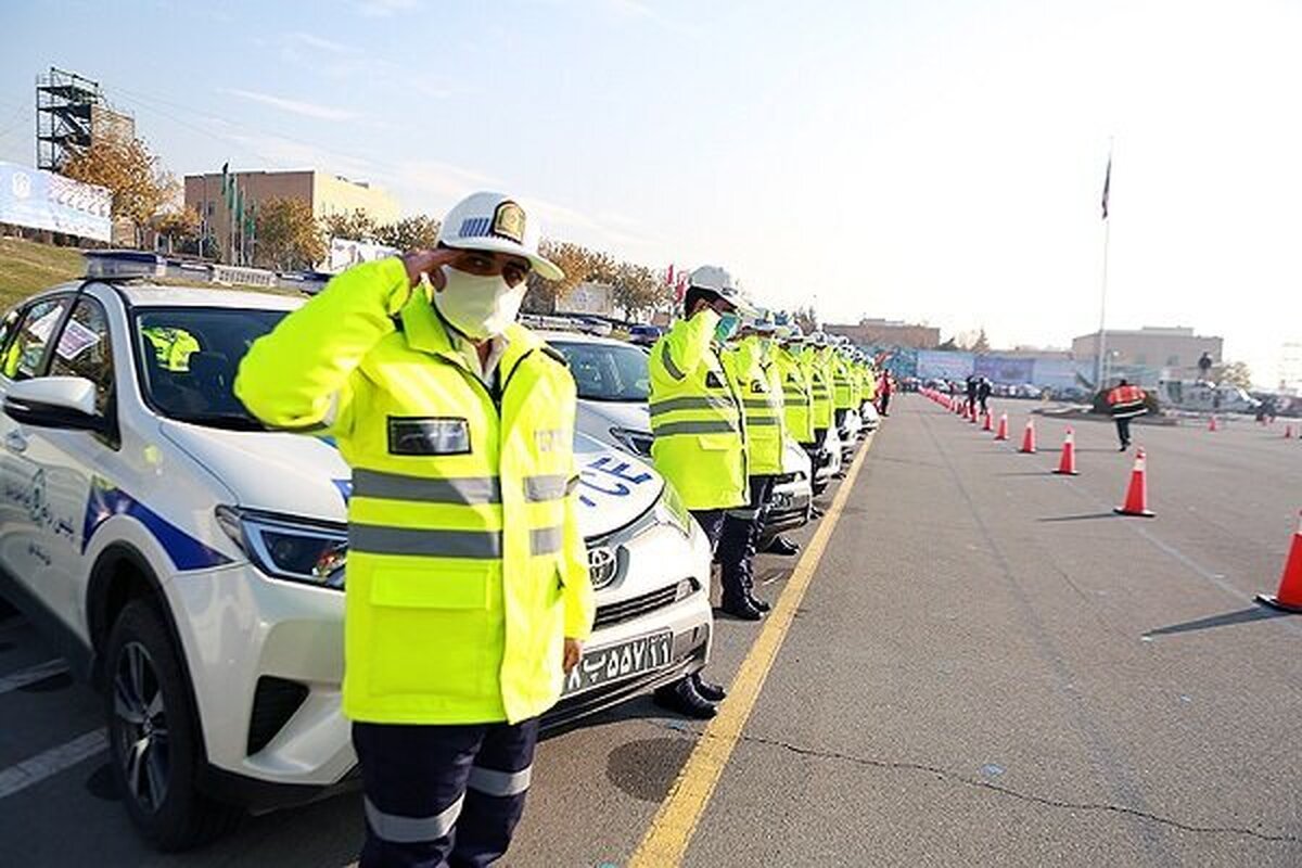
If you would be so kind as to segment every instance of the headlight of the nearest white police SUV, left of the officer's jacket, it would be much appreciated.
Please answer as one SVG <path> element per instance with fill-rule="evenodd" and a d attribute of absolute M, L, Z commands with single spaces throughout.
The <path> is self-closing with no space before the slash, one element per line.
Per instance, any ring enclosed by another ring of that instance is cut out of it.
<path fill-rule="evenodd" d="M 217 506 L 216 515 L 227 536 L 267 575 L 344 590 L 348 531 L 342 526 L 236 506 Z"/>

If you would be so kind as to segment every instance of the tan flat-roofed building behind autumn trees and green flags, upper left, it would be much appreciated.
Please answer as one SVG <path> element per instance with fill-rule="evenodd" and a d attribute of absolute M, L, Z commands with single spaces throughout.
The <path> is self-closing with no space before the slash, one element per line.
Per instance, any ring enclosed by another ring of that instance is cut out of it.
<path fill-rule="evenodd" d="M 365 211 L 376 224 L 398 219 L 398 202 L 365 181 L 315 169 L 301 172 L 234 172 L 232 177 L 245 202 L 259 206 L 267 199 L 298 199 L 311 206 L 318 219 Z M 221 198 L 221 173 L 185 176 L 185 206 L 199 212 L 217 246 L 225 251 L 230 238 L 230 215 Z"/>

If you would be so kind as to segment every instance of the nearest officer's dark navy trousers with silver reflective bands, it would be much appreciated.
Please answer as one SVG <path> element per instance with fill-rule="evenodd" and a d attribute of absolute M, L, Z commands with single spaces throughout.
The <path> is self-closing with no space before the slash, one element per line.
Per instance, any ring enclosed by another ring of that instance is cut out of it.
<path fill-rule="evenodd" d="M 480 868 L 525 811 L 538 718 L 519 724 L 353 724 L 366 843 L 359 868 Z"/>

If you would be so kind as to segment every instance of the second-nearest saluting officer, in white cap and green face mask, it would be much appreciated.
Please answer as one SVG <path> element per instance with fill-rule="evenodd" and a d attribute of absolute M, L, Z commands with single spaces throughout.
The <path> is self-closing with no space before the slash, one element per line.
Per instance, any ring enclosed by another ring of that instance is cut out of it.
<path fill-rule="evenodd" d="M 651 461 L 719 547 L 724 513 L 747 501 L 741 401 L 719 347 L 741 324 L 741 293 L 723 268 L 691 272 L 684 318 L 651 347 Z M 725 567 L 727 569 L 727 567 Z M 693 717 L 713 717 L 723 690 L 685 678 L 656 691 L 656 701 Z"/>

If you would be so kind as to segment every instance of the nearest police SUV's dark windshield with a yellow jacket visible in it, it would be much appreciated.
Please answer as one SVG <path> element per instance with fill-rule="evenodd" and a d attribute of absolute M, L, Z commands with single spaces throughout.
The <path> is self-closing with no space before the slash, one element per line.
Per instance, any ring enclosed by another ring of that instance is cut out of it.
<path fill-rule="evenodd" d="M 159 414 L 210 428 L 262 431 L 232 392 L 240 359 L 286 311 L 154 307 L 135 315 L 141 389 Z"/>

